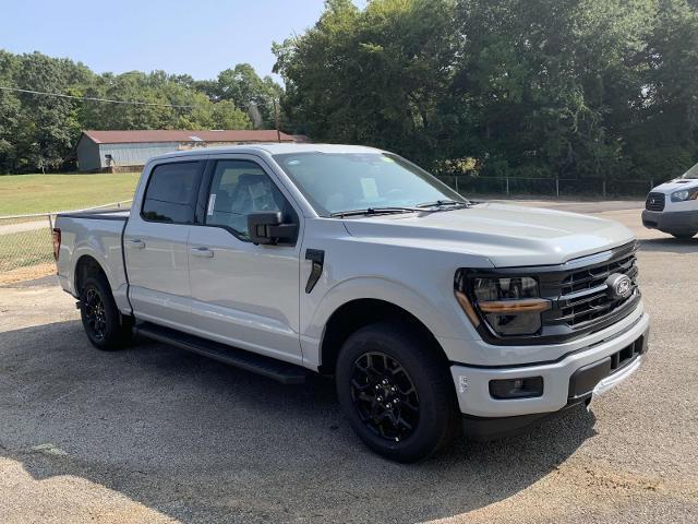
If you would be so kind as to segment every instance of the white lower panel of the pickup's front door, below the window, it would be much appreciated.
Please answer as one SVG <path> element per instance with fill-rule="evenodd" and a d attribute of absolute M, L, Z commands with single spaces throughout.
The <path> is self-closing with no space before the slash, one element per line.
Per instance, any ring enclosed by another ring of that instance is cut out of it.
<path fill-rule="evenodd" d="M 195 228 L 189 245 L 193 327 L 237 347 L 299 360 L 296 249 L 254 246 L 220 227 Z M 200 248 L 213 257 L 192 253 Z"/>

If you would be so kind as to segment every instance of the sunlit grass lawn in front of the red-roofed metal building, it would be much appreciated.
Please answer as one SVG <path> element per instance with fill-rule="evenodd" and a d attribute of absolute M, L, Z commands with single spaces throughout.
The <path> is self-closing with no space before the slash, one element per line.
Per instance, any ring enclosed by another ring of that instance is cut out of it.
<path fill-rule="evenodd" d="M 77 210 L 130 200 L 140 175 L 0 176 L 0 216 Z"/>

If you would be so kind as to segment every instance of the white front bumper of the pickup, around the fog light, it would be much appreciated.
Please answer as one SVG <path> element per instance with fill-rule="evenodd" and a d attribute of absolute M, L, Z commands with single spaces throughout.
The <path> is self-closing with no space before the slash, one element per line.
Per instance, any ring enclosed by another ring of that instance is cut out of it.
<path fill-rule="evenodd" d="M 649 315 L 642 315 L 622 333 L 578 349 L 552 361 L 514 367 L 471 367 L 454 365 L 450 372 L 462 414 L 479 418 L 546 415 L 601 393 L 633 374 L 641 365 L 649 334 Z M 637 347 L 639 341 L 640 346 Z M 617 359 L 628 347 L 637 354 L 625 366 L 612 371 L 606 362 Z M 528 398 L 494 398 L 490 381 L 542 377 L 543 392 Z M 540 417 L 537 417 L 540 418 Z"/>

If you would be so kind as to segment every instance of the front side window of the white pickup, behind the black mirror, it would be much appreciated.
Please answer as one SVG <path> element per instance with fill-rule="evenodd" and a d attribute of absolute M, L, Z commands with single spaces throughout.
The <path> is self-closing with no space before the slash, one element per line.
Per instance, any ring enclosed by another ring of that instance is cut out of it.
<path fill-rule="evenodd" d="M 218 160 L 210 182 L 206 225 L 224 226 L 246 239 L 248 215 L 260 211 L 280 211 L 287 219 L 296 217 L 291 205 L 257 164 Z"/>

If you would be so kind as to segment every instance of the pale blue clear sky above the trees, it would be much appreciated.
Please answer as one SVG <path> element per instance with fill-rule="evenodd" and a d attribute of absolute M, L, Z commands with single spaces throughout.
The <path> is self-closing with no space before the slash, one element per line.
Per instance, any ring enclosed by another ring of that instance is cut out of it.
<path fill-rule="evenodd" d="M 356 0 L 359 7 L 364 0 Z M 0 48 L 81 61 L 97 73 L 214 79 L 236 63 L 272 73 L 272 43 L 312 26 L 323 0 L 0 0 Z M 278 76 L 275 76 L 277 80 Z"/>

